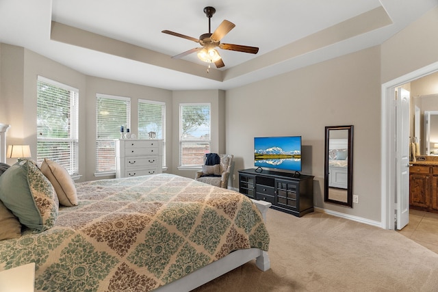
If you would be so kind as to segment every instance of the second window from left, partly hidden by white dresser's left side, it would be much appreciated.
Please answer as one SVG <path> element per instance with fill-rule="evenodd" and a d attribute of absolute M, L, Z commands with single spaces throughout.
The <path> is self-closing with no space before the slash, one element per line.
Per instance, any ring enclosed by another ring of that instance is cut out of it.
<path fill-rule="evenodd" d="M 96 95 L 96 175 L 116 172 L 116 142 L 120 127 L 130 124 L 130 98 Z M 126 131 L 125 131 L 126 132 Z"/>

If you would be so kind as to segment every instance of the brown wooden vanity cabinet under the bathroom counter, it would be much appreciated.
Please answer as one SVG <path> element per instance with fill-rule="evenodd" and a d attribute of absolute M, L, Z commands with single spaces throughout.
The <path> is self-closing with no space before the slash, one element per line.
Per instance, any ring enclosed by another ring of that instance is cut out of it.
<path fill-rule="evenodd" d="M 438 165 L 409 168 L 409 204 L 413 209 L 438 213 Z"/>

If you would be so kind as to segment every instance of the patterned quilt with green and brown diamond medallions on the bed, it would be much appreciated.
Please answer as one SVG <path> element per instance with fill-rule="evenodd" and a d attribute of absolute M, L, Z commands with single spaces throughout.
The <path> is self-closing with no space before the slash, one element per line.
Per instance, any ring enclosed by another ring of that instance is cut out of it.
<path fill-rule="evenodd" d="M 268 250 L 246 196 L 172 174 L 77 183 L 56 224 L 0 241 L 0 270 L 36 263 L 36 291 L 151 291 L 233 250 Z"/>

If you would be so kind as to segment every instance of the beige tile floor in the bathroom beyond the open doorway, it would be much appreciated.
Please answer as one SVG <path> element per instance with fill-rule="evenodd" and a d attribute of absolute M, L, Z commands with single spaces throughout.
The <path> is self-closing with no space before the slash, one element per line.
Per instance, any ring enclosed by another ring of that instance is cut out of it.
<path fill-rule="evenodd" d="M 410 210 L 409 224 L 398 232 L 438 254 L 438 214 Z"/>

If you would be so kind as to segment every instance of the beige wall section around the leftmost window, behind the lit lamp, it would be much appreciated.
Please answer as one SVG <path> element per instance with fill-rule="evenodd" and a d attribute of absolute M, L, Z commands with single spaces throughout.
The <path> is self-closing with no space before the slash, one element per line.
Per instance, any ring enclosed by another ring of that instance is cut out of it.
<path fill-rule="evenodd" d="M 1 105 L 3 123 L 10 124 L 8 144 L 29 144 L 36 157 L 36 81 L 38 75 L 85 92 L 85 75 L 22 47 L 1 44 Z M 85 100 L 79 100 L 79 147 L 85 148 Z M 3 107 L 4 105 L 4 107 Z M 79 153 L 79 172 L 86 155 Z M 8 160 L 14 163 L 15 159 Z"/>

